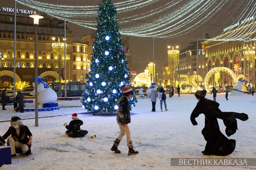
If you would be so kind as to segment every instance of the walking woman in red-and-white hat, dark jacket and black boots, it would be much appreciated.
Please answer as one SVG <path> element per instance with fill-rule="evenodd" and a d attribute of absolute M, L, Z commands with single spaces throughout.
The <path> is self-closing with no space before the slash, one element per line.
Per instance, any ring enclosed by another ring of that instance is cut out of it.
<path fill-rule="evenodd" d="M 129 149 L 128 155 L 136 155 L 139 152 L 134 150 L 134 147 L 132 144 L 132 139 L 131 139 L 131 134 L 130 134 L 130 129 L 128 126 L 128 123 L 131 122 L 130 105 L 129 105 L 128 99 L 130 99 L 134 93 L 130 86 L 124 87 L 123 91 L 124 91 L 124 96 L 121 97 L 117 102 L 117 104 L 118 104 L 117 124 L 119 125 L 119 128 L 120 128 L 120 134 L 115 139 L 114 144 L 111 148 L 111 151 L 115 151 L 115 153 L 121 153 L 121 151 L 118 150 L 117 147 L 119 146 L 122 138 L 126 134 L 126 141 L 127 141 L 127 146 Z"/>

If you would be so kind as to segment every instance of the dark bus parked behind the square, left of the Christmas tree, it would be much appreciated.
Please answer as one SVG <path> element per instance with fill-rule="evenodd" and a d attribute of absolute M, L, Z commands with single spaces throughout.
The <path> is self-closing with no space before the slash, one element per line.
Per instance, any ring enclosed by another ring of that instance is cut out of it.
<path fill-rule="evenodd" d="M 86 83 L 70 82 L 66 83 L 67 97 L 82 96 L 82 93 L 86 89 Z M 51 88 L 59 96 L 59 83 L 52 83 Z M 61 83 L 61 95 L 65 96 L 65 83 Z"/>

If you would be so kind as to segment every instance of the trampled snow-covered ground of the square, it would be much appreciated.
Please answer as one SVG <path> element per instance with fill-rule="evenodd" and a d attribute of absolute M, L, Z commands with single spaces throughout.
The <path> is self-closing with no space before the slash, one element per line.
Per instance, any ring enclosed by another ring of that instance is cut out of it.
<path fill-rule="evenodd" d="M 167 96 L 168 97 L 168 96 Z M 206 96 L 212 99 L 211 95 Z M 235 151 L 226 158 L 253 158 L 256 156 L 256 96 L 230 96 L 226 101 L 224 94 L 217 94 L 217 102 L 223 111 L 247 113 L 247 121 L 238 120 L 238 131 L 231 139 L 236 140 Z M 242 167 L 172 167 L 170 158 L 214 158 L 202 155 L 206 141 L 201 134 L 204 127 L 204 115 L 190 122 L 190 114 L 197 100 L 194 95 L 167 98 L 167 112 L 160 112 L 160 102 L 156 102 L 157 112 L 151 112 L 150 99 L 138 99 L 133 108 L 129 124 L 132 142 L 139 151 L 138 155 L 128 156 L 126 136 L 119 145 L 121 154 L 113 153 L 110 148 L 119 134 L 115 114 L 93 116 L 78 115 L 84 121 L 82 129 L 88 130 L 87 136 L 96 138 L 68 138 L 65 136 L 65 122 L 71 116 L 39 119 L 39 127 L 34 127 L 34 119 L 24 120 L 33 134 L 32 155 L 17 156 L 12 159 L 13 170 L 114 170 L 114 169 L 240 169 Z M 1 110 L 2 111 L 2 110 Z M 67 111 L 67 108 L 61 111 Z M 56 111 L 56 113 L 58 110 Z M 5 114 L 4 114 L 5 115 Z M 11 117 L 11 115 L 10 115 Z M 1 121 L 0 117 L 0 121 Z M 8 129 L 10 123 L 0 123 L 0 135 Z M 223 134 L 225 126 L 219 120 Z M 10 168 L 10 167 L 9 167 Z M 247 167 L 249 168 L 249 167 Z M 256 168 L 256 167 L 250 167 Z M 8 169 L 8 167 L 7 167 Z"/>

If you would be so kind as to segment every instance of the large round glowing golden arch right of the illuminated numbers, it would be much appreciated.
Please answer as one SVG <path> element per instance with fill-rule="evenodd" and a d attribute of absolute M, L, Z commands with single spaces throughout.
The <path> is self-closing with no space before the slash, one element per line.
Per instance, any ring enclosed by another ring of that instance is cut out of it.
<path fill-rule="evenodd" d="M 226 68 L 226 67 L 215 67 L 215 68 L 213 68 L 212 70 L 210 70 L 210 71 L 206 74 L 206 77 L 205 77 L 204 86 L 205 86 L 205 89 L 206 89 L 208 92 L 210 92 L 209 83 L 208 83 L 209 80 L 210 80 L 210 78 L 211 78 L 215 73 L 221 72 L 221 71 L 228 73 L 228 74 L 232 77 L 233 81 L 236 82 L 236 75 L 234 74 L 234 72 L 233 72 L 231 69 Z"/>

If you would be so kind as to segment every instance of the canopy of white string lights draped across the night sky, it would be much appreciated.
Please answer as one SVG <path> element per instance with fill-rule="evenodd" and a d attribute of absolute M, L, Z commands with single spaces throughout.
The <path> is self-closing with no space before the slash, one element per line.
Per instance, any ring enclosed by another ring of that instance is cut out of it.
<path fill-rule="evenodd" d="M 96 5 L 67 6 L 43 3 L 39 0 L 17 0 L 17 2 L 86 28 L 96 29 L 97 26 L 95 17 L 98 15 L 98 6 Z M 164 4 L 158 5 L 160 2 L 164 2 Z M 256 3 L 252 3 L 252 0 L 170 0 L 169 2 L 126 0 L 114 5 L 119 14 L 125 13 L 125 17 L 118 15 L 116 19 L 121 24 L 119 32 L 123 35 L 173 38 L 193 30 L 206 30 L 212 29 L 212 26 L 218 26 L 225 27 L 223 33 L 234 28 L 237 29 L 226 37 L 210 40 L 255 40 L 252 34 L 256 32 L 254 22 L 256 21 L 254 16 Z M 145 7 L 147 8 L 143 10 Z M 135 13 L 136 15 L 134 15 Z M 219 18 L 219 15 L 223 17 Z M 227 24 L 233 18 L 237 19 L 233 23 Z M 252 24 L 252 26 L 246 29 L 247 24 Z"/>

